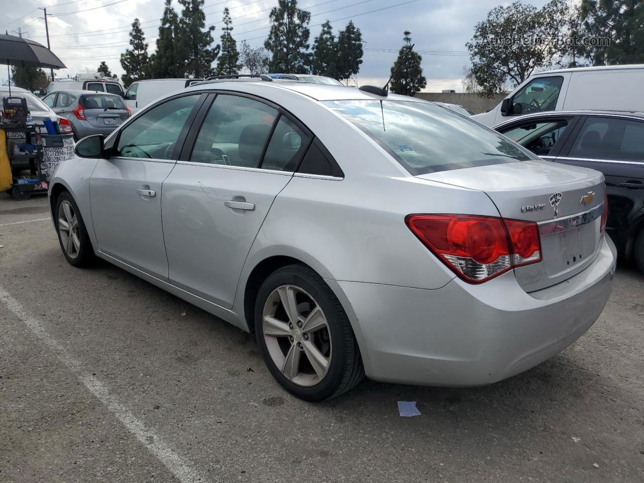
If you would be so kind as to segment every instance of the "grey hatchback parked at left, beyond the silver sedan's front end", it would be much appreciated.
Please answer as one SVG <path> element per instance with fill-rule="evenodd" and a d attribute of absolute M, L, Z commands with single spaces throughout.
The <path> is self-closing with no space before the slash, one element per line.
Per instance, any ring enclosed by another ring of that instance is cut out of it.
<path fill-rule="evenodd" d="M 102 92 L 55 91 L 43 102 L 70 121 L 76 140 L 93 134 L 107 136 L 131 115 L 122 97 Z"/>

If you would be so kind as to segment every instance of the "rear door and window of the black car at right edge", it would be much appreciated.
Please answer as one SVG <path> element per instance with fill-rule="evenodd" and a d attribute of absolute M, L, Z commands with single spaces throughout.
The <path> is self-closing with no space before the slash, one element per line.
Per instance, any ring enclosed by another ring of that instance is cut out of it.
<path fill-rule="evenodd" d="M 644 122 L 624 117 L 587 117 L 557 162 L 601 171 L 609 202 L 607 231 L 621 254 L 644 207 Z"/>

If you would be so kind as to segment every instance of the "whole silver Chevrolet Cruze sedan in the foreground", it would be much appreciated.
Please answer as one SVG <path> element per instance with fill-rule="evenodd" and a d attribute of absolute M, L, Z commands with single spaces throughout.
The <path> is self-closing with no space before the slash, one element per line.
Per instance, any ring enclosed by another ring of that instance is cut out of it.
<path fill-rule="evenodd" d="M 212 82 L 84 138 L 50 185 L 96 256 L 254 332 L 310 401 L 359 383 L 494 383 L 557 354 L 611 292 L 601 173 L 430 102 Z"/>

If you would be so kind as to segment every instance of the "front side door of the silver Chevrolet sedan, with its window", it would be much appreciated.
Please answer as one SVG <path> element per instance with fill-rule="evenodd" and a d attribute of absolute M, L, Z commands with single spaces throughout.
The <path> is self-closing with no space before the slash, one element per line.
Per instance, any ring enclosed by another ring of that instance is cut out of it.
<path fill-rule="evenodd" d="M 100 251 L 161 279 L 167 280 L 162 183 L 204 99 L 196 93 L 166 100 L 126 124 L 90 180 Z"/>

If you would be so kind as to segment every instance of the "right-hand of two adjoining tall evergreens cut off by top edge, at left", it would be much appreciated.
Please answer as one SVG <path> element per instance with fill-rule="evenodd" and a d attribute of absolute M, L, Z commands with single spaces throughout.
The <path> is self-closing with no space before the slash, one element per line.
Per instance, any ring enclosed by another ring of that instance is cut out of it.
<path fill-rule="evenodd" d="M 214 42 L 211 32 L 214 26 L 205 28 L 204 0 L 178 0 L 184 7 L 181 12 L 178 58 L 184 59 L 185 77 L 209 77 L 213 75 L 213 62 L 221 50 Z M 205 31 L 204 31 L 205 28 Z M 182 76 L 184 77 L 184 76 Z"/>

